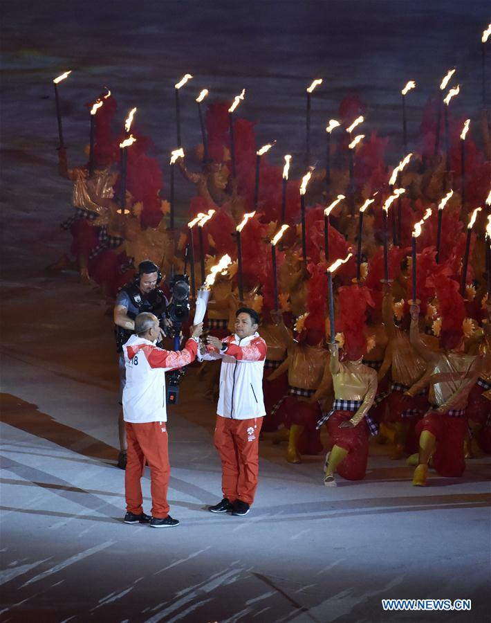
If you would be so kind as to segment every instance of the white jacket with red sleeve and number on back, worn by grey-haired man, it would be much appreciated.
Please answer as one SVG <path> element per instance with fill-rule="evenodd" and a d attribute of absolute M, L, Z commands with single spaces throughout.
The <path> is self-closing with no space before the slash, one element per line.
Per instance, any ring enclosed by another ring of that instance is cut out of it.
<path fill-rule="evenodd" d="M 182 368 L 196 357 L 198 344 L 189 339 L 184 350 L 163 350 L 132 335 L 123 345 L 126 385 L 122 406 L 124 422 L 167 422 L 165 372 Z"/>

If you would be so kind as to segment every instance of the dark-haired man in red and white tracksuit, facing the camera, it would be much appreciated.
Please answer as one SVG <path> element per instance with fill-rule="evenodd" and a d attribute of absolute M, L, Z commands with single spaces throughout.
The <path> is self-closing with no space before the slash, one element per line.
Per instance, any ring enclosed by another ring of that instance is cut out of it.
<path fill-rule="evenodd" d="M 248 514 L 259 476 L 259 431 L 266 415 L 263 368 L 266 342 L 259 336 L 254 309 L 237 310 L 235 334 L 223 341 L 209 336 L 198 359 L 221 359 L 219 404 L 214 444 L 222 466 L 223 500 L 210 506 L 212 513 Z"/>

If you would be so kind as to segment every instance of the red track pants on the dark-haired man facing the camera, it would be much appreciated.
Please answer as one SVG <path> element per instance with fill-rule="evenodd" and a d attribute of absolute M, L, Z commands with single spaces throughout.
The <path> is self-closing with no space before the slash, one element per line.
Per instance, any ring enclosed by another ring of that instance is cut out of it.
<path fill-rule="evenodd" d="M 259 431 L 262 417 L 231 419 L 216 416 L 215 448 L 221 458 L 223 497 L 254 502 L 259 476 Z"/>

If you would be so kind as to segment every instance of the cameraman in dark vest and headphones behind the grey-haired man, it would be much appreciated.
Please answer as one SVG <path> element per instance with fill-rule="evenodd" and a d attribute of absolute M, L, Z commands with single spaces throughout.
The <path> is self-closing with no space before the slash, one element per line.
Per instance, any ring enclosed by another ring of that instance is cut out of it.
<path fill-rule="evenodd" d="M 123 344 L 127 343 L 135 329 L 135 318 L 143 311 L 150 312 L 157 316 L 161 325 L 168 326 L 166 310 L 168 301 L 162 290 L 158 288 L 161 281 L 165 279 L 160 273 L 160 269 L 154 262 L 145 260 L 138 265 L 138 273 L 133 278 L 133 282 L 120 289 L 114 306 L 114 324 L 116 347 L 119 355 L 118 370 L 120 374 L 120 392 L 124 388 L 126 381 L 126 370 L 124 367 L 124 356 L 122 353 Z M 163 332 L 160 333 L 163 336 Z M 121 397 L 120 397 L 121 399 Z M 127 461 L 127 441 L 124 431 L 124 421 L 122 409 L 118 419 L 118 429 L 120 437 L 120 453 L 118 455 L 118 467 L 125 469 Z"/>

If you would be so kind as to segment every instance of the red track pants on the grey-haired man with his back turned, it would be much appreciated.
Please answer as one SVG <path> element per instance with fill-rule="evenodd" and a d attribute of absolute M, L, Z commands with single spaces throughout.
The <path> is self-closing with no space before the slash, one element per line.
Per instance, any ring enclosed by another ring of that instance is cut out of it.
<path fill-rule="evenodd" d="M 135 515 L 143 512 L 140 479 L 147 460 L 150 467 L 151 516 L 164 519 L 169 514 L 167 489 L 171 474 L 167 449 L 167 422 L 124 424 L 128 442 L 127 465 L 124 472 L 126 509 Z"/>

